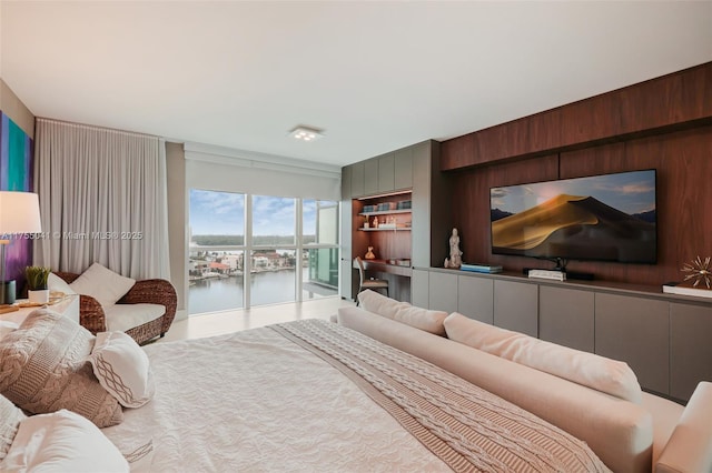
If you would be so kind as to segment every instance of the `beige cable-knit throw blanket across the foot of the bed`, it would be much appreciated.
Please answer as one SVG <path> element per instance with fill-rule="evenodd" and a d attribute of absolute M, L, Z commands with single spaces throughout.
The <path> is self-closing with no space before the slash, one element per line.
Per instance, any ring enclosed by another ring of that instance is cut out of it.
<path fill-rule="evenodd" d="M 584 442 L 421 359 L 323 321 L 271 329 L 340 370 L 454 471 L 609 471 Z"/>

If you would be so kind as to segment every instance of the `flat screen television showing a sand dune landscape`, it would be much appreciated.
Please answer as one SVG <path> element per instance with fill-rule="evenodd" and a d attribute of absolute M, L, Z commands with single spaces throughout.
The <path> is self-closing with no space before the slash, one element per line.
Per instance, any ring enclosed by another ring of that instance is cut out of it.
<path fill-rule="evenodd" d="M 654 169 L 492 188 L 492 253 L 654 264 L 655 204 Z"/>

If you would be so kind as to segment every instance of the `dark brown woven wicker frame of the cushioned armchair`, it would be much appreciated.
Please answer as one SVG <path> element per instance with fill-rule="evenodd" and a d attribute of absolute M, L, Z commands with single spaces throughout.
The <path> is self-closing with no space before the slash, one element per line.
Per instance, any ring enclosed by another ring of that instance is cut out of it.
<path fill-rule="evenodd" d="M 59 278 L 68 284 L 79 278 L 79 274 L 55 271 Z M 147 279 L 136 281 L 136 284 L 121 298 L 117 304 L 160 304 L 166 308 L 166 313 L 156 320 L 126 331 L 138 344 L 164 336 L 176 316 L 178 298 L 174 285 L 162 279 Z M 91 333 L 107 330 L 106 315 L 101 304 L 90 295 L 79 295 L 79 323 Z"/>

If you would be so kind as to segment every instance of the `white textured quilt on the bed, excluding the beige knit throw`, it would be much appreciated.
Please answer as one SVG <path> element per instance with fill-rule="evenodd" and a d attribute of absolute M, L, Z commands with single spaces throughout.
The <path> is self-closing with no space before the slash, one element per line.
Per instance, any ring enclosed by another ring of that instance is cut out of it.
<path fill-rule="evenodd" d="M 146 351 L 161 366 L 155 399 L 103 432 L 123 453 L 152 440 L 151 471 L 451 471 L 356 384 L 271 329 Z M 304 380 L 313 389 L 299 390 Z"/>

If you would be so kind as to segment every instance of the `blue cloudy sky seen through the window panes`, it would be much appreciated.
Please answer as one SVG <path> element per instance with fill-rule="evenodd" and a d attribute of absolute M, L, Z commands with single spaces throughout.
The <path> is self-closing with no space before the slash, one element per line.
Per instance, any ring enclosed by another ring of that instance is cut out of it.
<path fill-rule="evenodd" d="M 253 197 L 253 234 L 294 235 L 294 198 Z M 304 234 L 316 233 L 316 201 L 303 201 Z M 190 230 L 194 235 L 245 234 L 245 194 L 190 190 Z"/>

